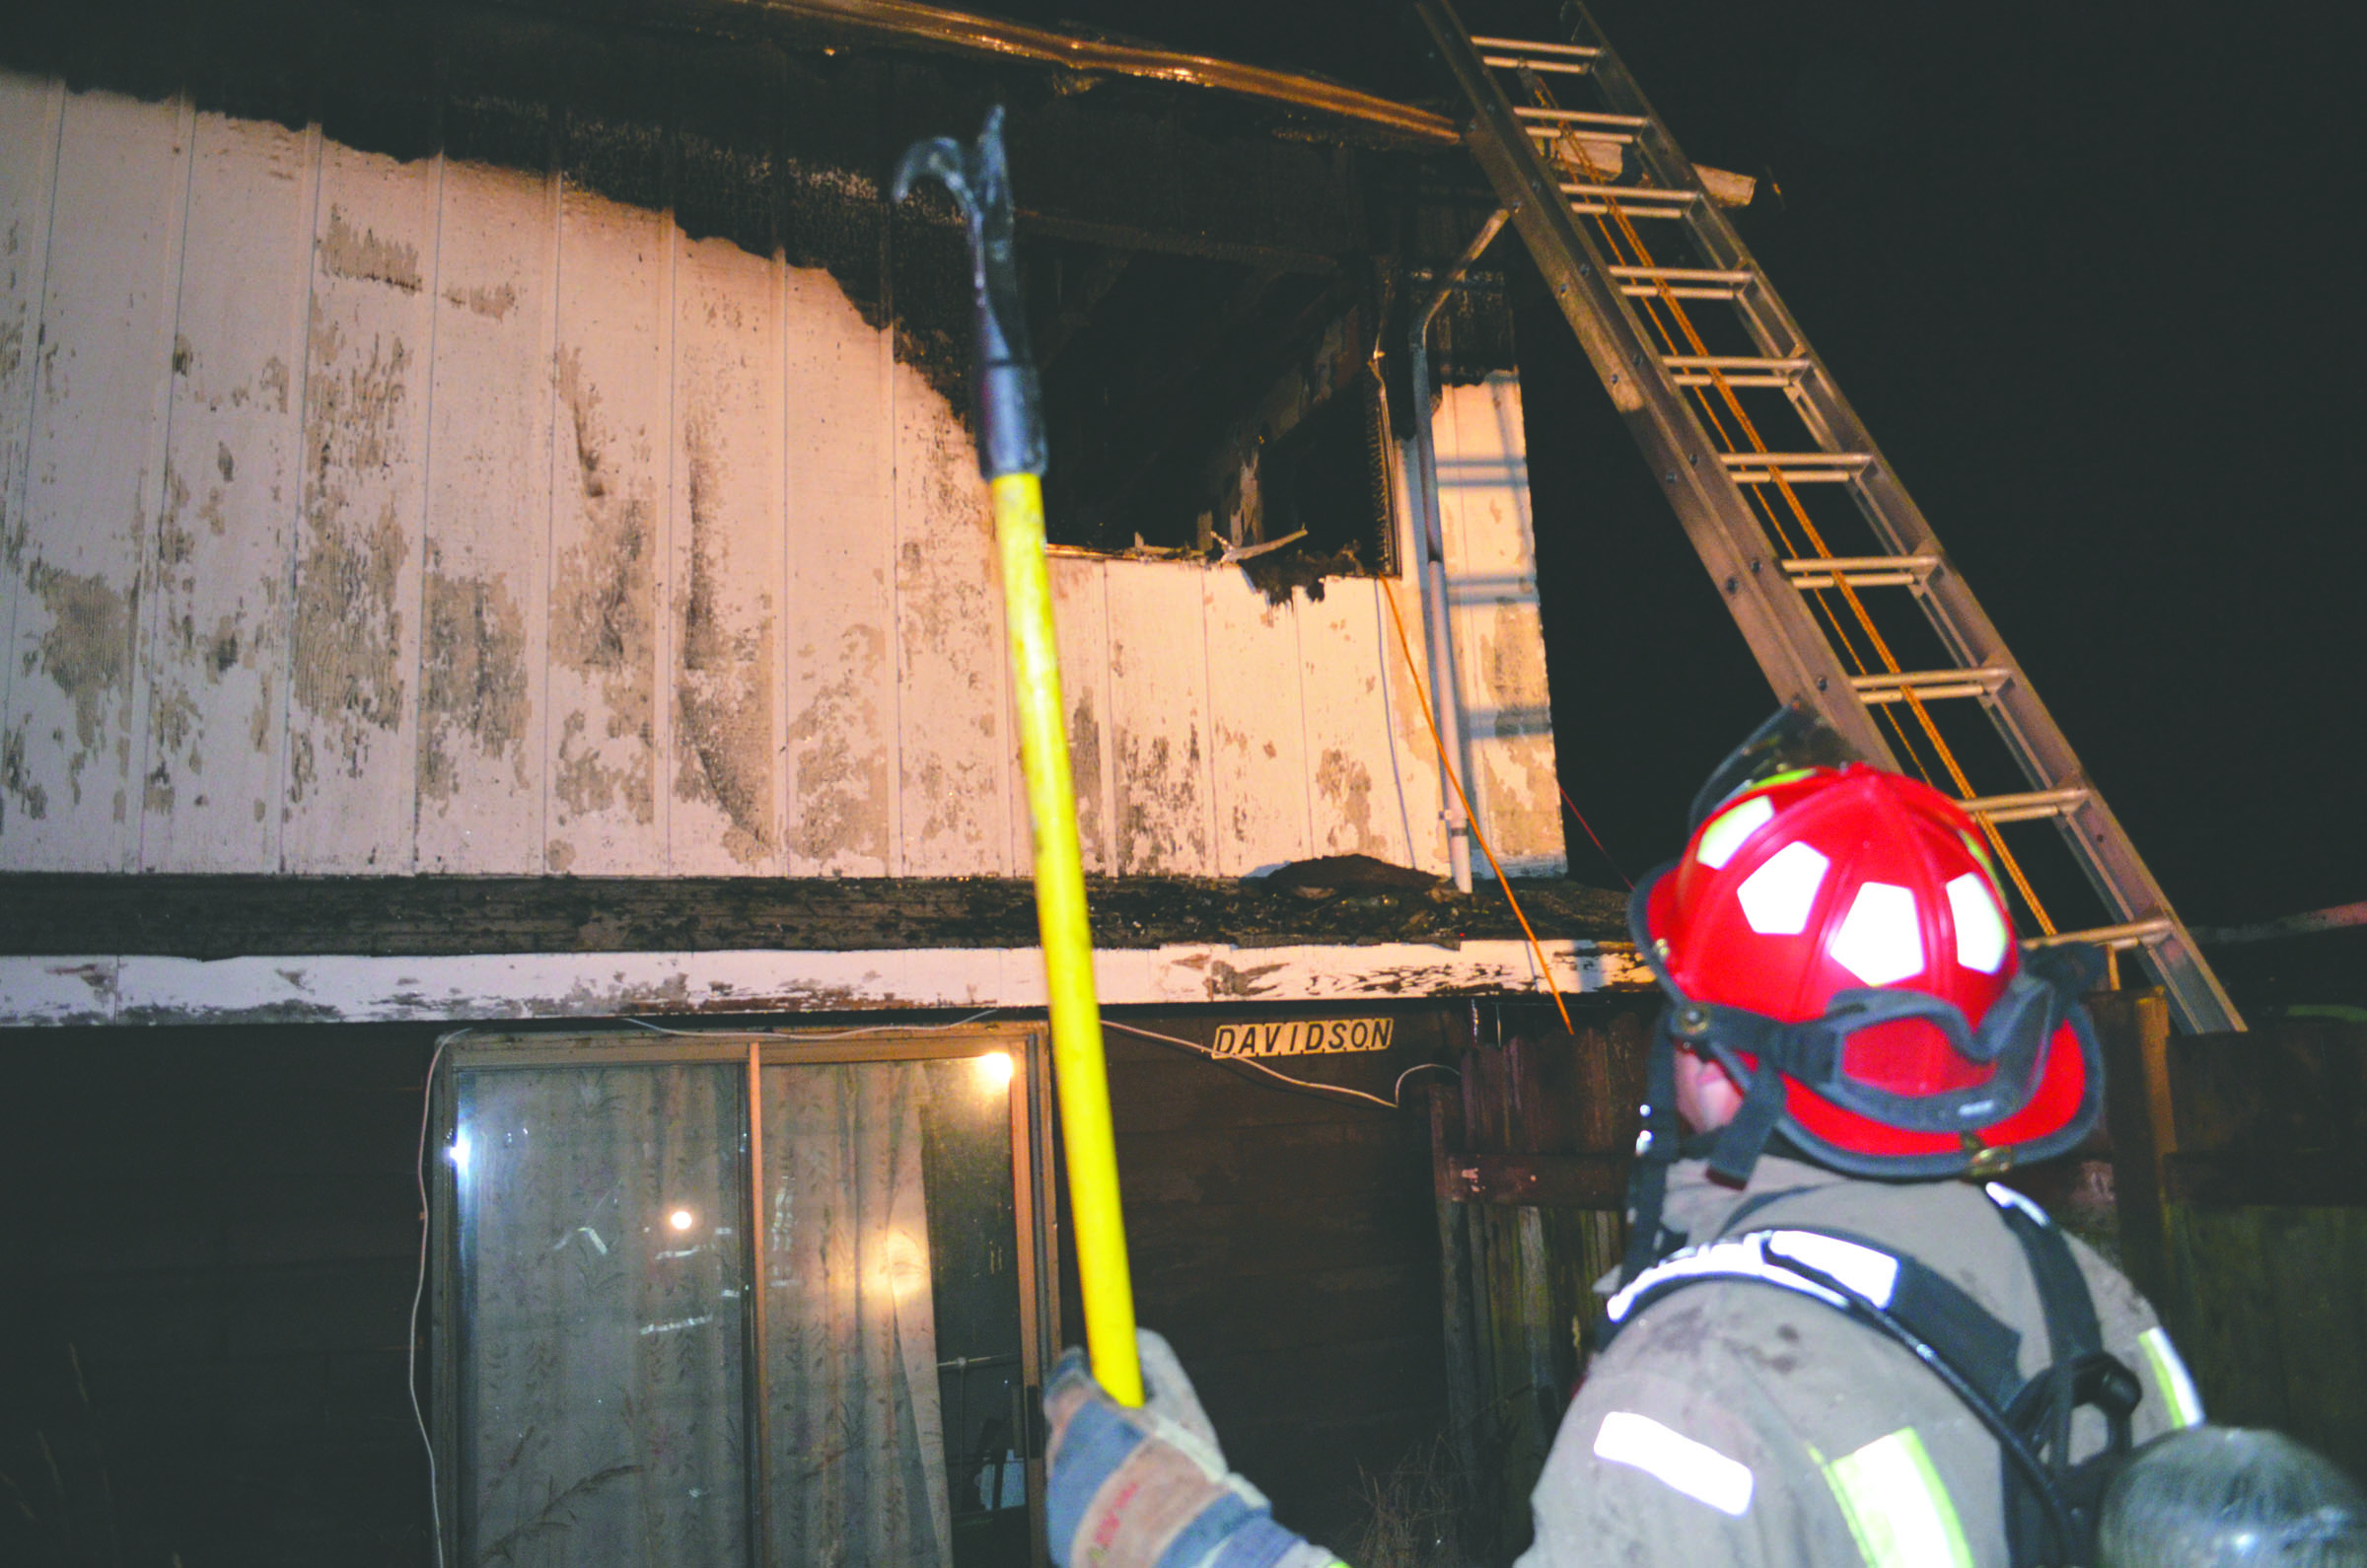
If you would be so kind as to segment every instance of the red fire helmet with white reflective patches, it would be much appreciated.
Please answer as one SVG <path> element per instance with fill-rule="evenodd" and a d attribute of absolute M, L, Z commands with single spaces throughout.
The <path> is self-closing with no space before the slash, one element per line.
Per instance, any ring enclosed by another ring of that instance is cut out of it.
<path fill-rule="evenodd" d="M 1744 1087 L 1735 1132 L 1780 1130 L 1870 1175 L 1988 1172 L 2076 1144 L 2102 1111 L 2085 955 L 2024 962 L 1972 820 L 1927 784 L 1789 767 L 1707 810 L 1638 888 L 1671 1042 Z"/>

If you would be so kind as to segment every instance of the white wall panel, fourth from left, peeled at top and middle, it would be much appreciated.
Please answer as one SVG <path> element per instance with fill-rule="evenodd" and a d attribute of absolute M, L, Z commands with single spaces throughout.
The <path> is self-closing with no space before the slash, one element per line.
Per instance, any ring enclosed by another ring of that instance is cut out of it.
<path fill-rule="evenodd" d="M 294 872 L 409 872 L 438 159 L 322 147 L 289 635 Z"/>

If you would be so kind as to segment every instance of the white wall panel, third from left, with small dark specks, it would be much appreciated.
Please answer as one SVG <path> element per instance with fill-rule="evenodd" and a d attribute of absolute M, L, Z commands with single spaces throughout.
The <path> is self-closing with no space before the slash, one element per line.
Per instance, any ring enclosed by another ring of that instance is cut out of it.
<path fill-rule="evenodd" d="M 196 116 L 156 526 L 140 865 L 279 869 L 320 142 Z"/>

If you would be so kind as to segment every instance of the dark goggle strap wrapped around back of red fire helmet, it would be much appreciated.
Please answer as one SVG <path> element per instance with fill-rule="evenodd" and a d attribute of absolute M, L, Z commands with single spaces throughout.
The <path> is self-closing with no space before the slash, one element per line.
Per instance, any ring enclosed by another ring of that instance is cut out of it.
<path fill-rule="evenodd" d="M 1837 992 L 1820 1016 L 1799 1023 L 1785 1023 L 1742 1007 L 1695 1002 L 1669 973 L 1666 959 L 1645 921 L 1652 888 L 1666 874 L 1669 867 L 1662 867 L 1636 888 L 1636 895 L 1628 900 L 1628 933 L 1662 990 L 1669 992 L 1662 1028 L 1655 1030 L 1655 1052 L 1671 1052 L 1683 1045 L 1709 1054 L 1742 1087 L 1742 1106 L 1718 1130 L 1709 1161 L 1711 1175 L 1721 1182 L 1747 1182 L 1752 1168 L 1759 1163 L 1759 1153 L 1778 1132 L 1804 1153 L 1842 1170 L 1868 1175 L 1953 1175 L 1972 1163 L 1972 1151 L 1979 1149 L 1979 1139 L 1972 1135 L 1979 1127 L 1991 1127 L 2014 1116 L 2038 1092 L 2047 1042 L 2062 1023 L 2071 1023 L 2088 1059 L 2097 1059 L 2088 1011 L 2078 997 L 2095 983 L 2102 964 L 2092 947 L 2078 943 L 2026 955 L 2021 973 L 1988 1007 L 1979 1028 L 1953 1002 L 1922 990 L 1898 988 Z M 1901 1094 L 1851 1078 L 1846 1073 L 1849 1040 L 1863 1030 L 1903 1021 L 1941 1030 L 1962 1059 L 1988 1063 L 1995 1071 L 1984 1082 L 1934 1094 Z M 1752 1056 L 1754 1061 L 1747 1063 L 1742 1056 Z M 1785 1078 L 1797 1080 L 1818 1099 L 1884 1127 L 1958 1135 L 1967 1153 L 1856 1156 L 1834 1149 L 1825 1139 L 1801 1130 L 1787 1116 Z M 2097 1099 L 2092 1085 L 2088 1099 Z M 2043 1153 L 2055 1153 L 2055 1144 L 2069 1146 L 2078 1142 L 2088 1123 L 2092 1123 L 2092 1116 L 2076 1118 L 2066 1127 L 2069 1137 L 2059 1132 L 2043 1142 Z M 2040 1149 L 2031 1153 L 2040 1153 Z"/>

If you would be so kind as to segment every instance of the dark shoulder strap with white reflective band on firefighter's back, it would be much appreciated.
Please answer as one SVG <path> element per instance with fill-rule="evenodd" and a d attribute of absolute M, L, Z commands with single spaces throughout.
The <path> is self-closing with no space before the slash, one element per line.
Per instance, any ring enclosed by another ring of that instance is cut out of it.
<path fill-rule="evenodd" d="M 2047 1322 L 2052 1362 L 2033 1379 L 2019 1369 L 2021 1334 L 1946 1274 L 1815 1227 L 1752 1229 L 1662 1258 L 1610 1298 L 1602 1343 L 1664 1296 L 1711 1279 L 1818 1300 L 1915 1355 L 1998 1440 L 2014 1568 L 2085 1563 L 2104 1485 L 2128 1457 L 2137 1379 L 2104 1352 L 2095 1298 L 2045 1210 L 2007 1187 L 1991 1184 L 1988 1196 L 2021 1244 Z M 2083 1405 L 2102 1414 L 2107 1440 L 2073 1464 L 2071 1426 Z"/>

